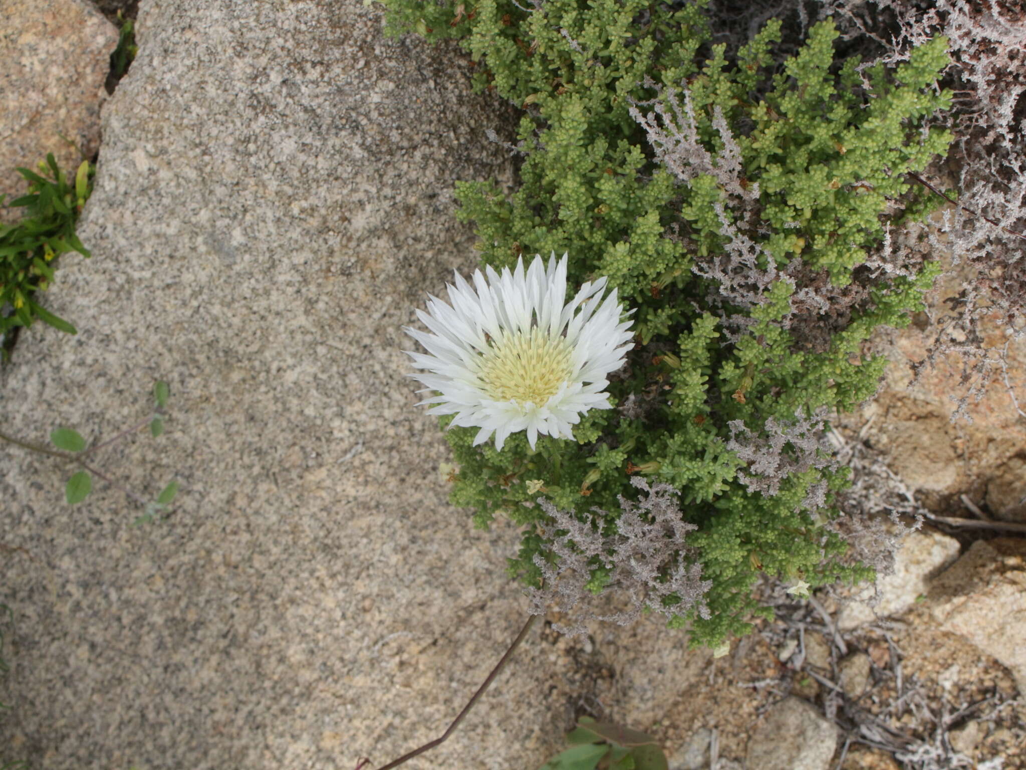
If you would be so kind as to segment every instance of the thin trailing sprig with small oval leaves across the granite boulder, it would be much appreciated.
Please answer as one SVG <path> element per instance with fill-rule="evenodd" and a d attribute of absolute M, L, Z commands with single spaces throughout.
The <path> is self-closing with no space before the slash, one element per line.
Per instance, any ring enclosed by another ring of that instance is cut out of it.
<path fill-rule="evenodd" d="M 91 456 L 100 450 L 127 438 L 129 435 L 147 427 L 150 430 L 150 435 L 154 438 L 163 434 L 167 399 L 169 396 L 170 388 L 167 383 L 162 380 L 157 381 L 153 386 L 153 412 L 151 415 L 137 424 L 120 431 L 113 438 L 109 438 L 106 441 L 94 441 L 91 446 L 81 433 L 69 427 L 57 427 L 50 431 L 50 444 L 56 449 L 41 447 L 9 436 L 3 432 L 0 432 L 0 440 L 7 441 L 30 452 L 53 457 L 77 467 L 78 469 L 71 474 L 65 485 L 65 499 L 69 505 L 80 503 L 88 497 L 89 493 L 92 492 L 92 479 L 96 477 L 105 484 L 121 490 L 131 500 L 143 506 L 144 513 L 135 518 L 133 523 L 135 526 L 149 524 L 158 521 L 161 513 L 166 511 L 170 506 L 174 500 L 174 496 L 179 492 L 179 483 L 172 480 L 160 491 L 156 498 L 148 499 L 143 495 L 125 489 L 115 482 L 93 464 Z"/>

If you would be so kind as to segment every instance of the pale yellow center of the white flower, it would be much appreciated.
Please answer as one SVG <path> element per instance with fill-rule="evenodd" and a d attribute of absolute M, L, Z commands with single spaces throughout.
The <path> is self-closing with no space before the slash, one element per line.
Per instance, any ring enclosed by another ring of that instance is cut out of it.
<path fill-rule="evenodd" d="M 570 377 L 570 346 L 538 326 L 491 340 L 478 372 L 487 396 L 542 407 Z"/>

